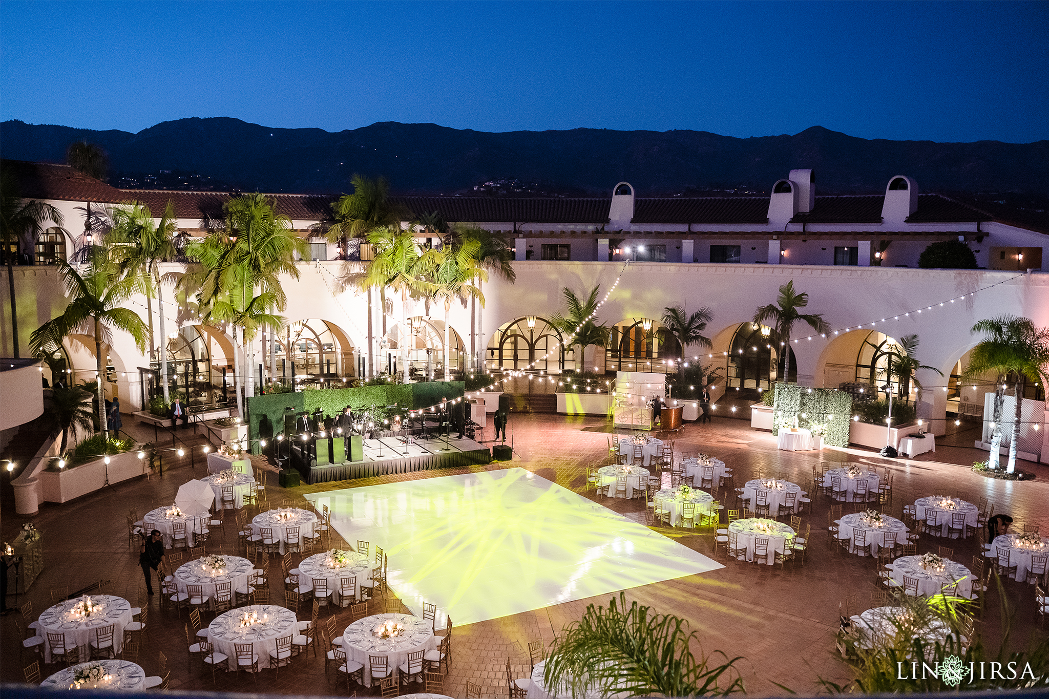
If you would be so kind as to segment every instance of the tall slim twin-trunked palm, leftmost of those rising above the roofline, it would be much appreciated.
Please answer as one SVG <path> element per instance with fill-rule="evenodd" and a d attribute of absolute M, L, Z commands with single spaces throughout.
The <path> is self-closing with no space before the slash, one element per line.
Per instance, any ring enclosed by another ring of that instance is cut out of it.
<path fill-rule="evenodd" d="M 119 261 L 121 268 L 131 274 L 142 275 L 146 288 L 146 313 L 149 315 L 149 358 L 154 358 L 156 343 L 153 340 L 153 290 L 156 291 L 158 306 L 160 337 L 167 338 L 165 331 L 164 290 L 160 285 L 160 271 L 157 263 L 175 255 L 174 236 L 177 217 L 171 200 L 164 210 L 159 223 L 153 223 L 153 215 L 148 206 L 130 204 L 113 210 L 113 227 L 107 236 L 110 250 Z M 169 402 L 168 396 L 168 348 L 165 340 L 160 348 L 160 385 L 164 390 L 164 402 Z"/>

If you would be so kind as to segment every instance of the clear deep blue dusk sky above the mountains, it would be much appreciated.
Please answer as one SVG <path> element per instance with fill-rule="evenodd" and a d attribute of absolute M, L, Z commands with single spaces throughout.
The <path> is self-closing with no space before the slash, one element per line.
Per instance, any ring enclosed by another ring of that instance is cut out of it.
<path fill-rule="evenodd" d="M 0 3 L 0 118 L 1049 138 L 1047 2 Z"/>

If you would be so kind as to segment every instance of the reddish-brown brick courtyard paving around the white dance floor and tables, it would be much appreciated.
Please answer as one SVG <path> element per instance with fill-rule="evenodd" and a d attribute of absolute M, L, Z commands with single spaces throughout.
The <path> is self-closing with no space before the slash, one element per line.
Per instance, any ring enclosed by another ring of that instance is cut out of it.
<path fill-rule="evenodd" d="M 584 489 L 587 466 L 606 463 L 609 432 L 600 418 L 566 418 L 555 415 L 517 415 L 511 425 L 514 443 L 513 466 L 532 471 L 551 481 L 577 492 Z M 187 433 L 183 433 L 186 435 Z M 143 441 L 151 440 L 152 431 L 143 432 Z M 822 452 L 792 453 L 775 449 L 769 433 L 750 429 L 749 422 L 735 419 L 716 419 L 710 424 L 688 424 L 676 437 L 676 451 L 703 451 L 724 460 L 734 468 L 736 484 L 761 473 L 792 481 L 810 477 L 812 465 L 820 460 L 857 461 L 887 465 L 895 474 L 893 503 L 885 510 L 900 517 L 904 504 L 912 503 L 920 493 L 939 489 L 966 490 L 972 499 L 986 497 L 994 504 L 996 512 L 1007 512 L 1015 523 L 1040 524 L 1049 530 L 1049 468 L 1023 463 L 1023 468 L 1037 474 L 1039 480 L 1012 483 L 986 479 L 973 474 L 964 464 L 982 457 L 981 453 L 964 446 L 938 446 L 935 454 L 925 454 L 916 460 L 882 459 L 874 452 L 826 449 Z M 956 443 L 964 443 L 957 440 Z M 191 469 L 188 459 L 181 463 L 166 464 L 163 477 L 138 479 L 117 484 L 112 488 L 83 497 L 64 505 L 45 504 L 38 515 L 30 518 L 44 534 L 46 567 L 33 588 L 19 597 L 19 604 L 30 602 L 34 617 L 50 606 L 50 589 L 68 587 L 74 592 L 99 580 L 112 581 L 115 594 L 125 596 L 132 605 L 144 593 L 142 571 L 137 565 L 137 550 L 128 545 L 125 515 L 134 509 L 141 516 L 149 509 L 170 503 L 179 484 L 194 474 L 204 475 L 202 464 Z M 508 463 L 493 463 L 483 468 L 497 469 Z M 304 495 L 329 489 L 361 487 L 398 480 L 427 479 L 459 469 L 420 472 L 390 475 L 358 481 L 340 481 L 318 485 L 302 485 L 284 489 L 270 485 L 271 504 L 282 500 L 305 506 Z M 640 523 L 645 522 L 643 500 L 606 499 L 587 495 L 601 505 Z M 827 545 L 827 498 L 813 496 L 811 511 L 802 517 L 813 527 L 812 544 L 807 563 L 787 566 L 786 569 L 755 566 L 732 561 L 720 552 L 712 552 L 712 534 L 691 529 L 658 529 L 681 544 L 719 561 L 725 568 L 699 575 L 655 583 L 626 591 L 627 599 L 650 605 L 657 612 L 673 613 L 686 618 L 691 628 L 700 631 L 703 650 L 707 653 L 722 651 L 729 657 L 742 656 L 737 668 L 749 694 L 783 694 L 773 682 L 778 682 L 800 694 L 817 691 L 817 678 L 843 681 L 848 669 L 840 662 L 834 649 L 837 629 L 838 605 L 848 595 L 856 595 L 858 610 L 870 607 L 870 593 L 874 589 L 875 564 L 870 559 L 844 555 Z M 26 518 L 14 515 L 13 497 L 8 482 L 3 484 L 4 540 L 10 540 Z M 338 544 L 338 534 L 331 545 Z M 935 539 L 923 538 L 919 552 L 935 547 Z M 216 531 L 209 548 L 222 545 L 226 552 L 234 552 L 237 545 L 235 528 L 231 523 L 224 531 Z M 955 541 L 954 560 L 968 565 L 980 550 L 977 540 Z M 297 561 L 296 554 L 293 560 Z M 269 575 L 272 600 L 282 599 L 279 562 L 271 563 Z M 395 592 L 395 590 L 394 590 Z M 1037 627 L 1033 604 L 1033 587 L 1013 581 L 1005 582 L 1005 594 L 1015 610 L 1015 624 L 1010 643 L 1015 648 L 1026 646 L 1034 634 L 1046 632 Z M 578 618 L 586 605 L 606 604 L 607 597 L 580 599 L 547 607 L 513 616 L 472 625 L 456 626 L 450 674 L 445 693 L 464 696 L 466 682 L 483 686 L 485 696 L 502 696 L 507 693 L 504 665 L 510 656 L 517 676 L 529 671 L 527 646 L 529 641 L 553 640 L 566 624 Z M 8 605 L 14 597 L 8 597 Z M 1001 636 L 999 594 L 989 594 L 984 613 L 982 633 L 991 648 L 997 648 Z M 163 652 L 172 669 L 171 687 L 176 690 L 211 690 L 211 673 L 201 671 L 199 662 L 188 661 L 183 626 L 187 615 L 173 609 L 159 610 L 156 597 L 151 606 L 149 632 L 146 635 L 140 664 L 147 674 L 157 674 L 157 653 Z M 336 608 L 338 610 L 338 608 Z M 329 612 L 322 612 L 322 620 Z M 4 657 L 2 679 L 21 681 L 22 662 L 19 657 L 19 638 L 16 631 L 18 614 L 2 619 Z M 348 610 L 337 611 L 336 628 L 349 622 Z M 211 615 L 205 615 L 205 625 Z M 305 618 L 305 611 L 300 614 Z M 27 619 L 27 620 L 33 620 Z M 31 661 L 28 655 L 26 662 Z M 46 676 L 57 667 L 42 668 Z M 336 685 L 335 678 L 325 679 L 323 653 L 315 658 L 312 651 L 295 659 L 291 668 L 281 669 L 279 677 L 273 671 L 263 671 L 253 681 L 239 674 L 219 673 L 215 689 L 223 691 L 264 691 L 284 694 L 344 695 L 345 684 Z M 334 675 L 334 673 L 333 673 Z M 413 687 L 411 691 L 422 691 Z M 366 692 L 358 690 L 360 695 Z"/>

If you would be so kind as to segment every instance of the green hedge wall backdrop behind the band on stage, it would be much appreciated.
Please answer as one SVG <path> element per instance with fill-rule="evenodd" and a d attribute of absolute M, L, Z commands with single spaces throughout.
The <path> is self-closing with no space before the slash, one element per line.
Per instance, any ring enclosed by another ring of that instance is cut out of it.
<path fill-rule="evenodd" d="M 429 408 L 442 398 L 461 397 L 466 392 L 463 381 L 426 381 L 421 384 L 390 384 L 388 386 L 362 386 L 356 389 L 319 389 L 298 393 L 272 393 L 248 398 L 248 434 L 252 440 L 252 454 L 260 454 L 258 439 L 267 443 L 283 431 L 284 410 L 296 413 L 320 410 L 325 417 L 342 413 L 346 406 L 355 411 L 376 406 L 385 408 L 398 403 L 411 410 Z"/>

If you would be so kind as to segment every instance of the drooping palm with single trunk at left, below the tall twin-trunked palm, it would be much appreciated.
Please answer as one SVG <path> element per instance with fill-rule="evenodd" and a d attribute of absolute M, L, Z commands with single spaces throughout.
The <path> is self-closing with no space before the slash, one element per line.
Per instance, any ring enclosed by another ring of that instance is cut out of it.
<path fill-rule="evenodd" d="M 111 328 L 115 328 L 130 334 L 138 349 L 145 351 L 149 331 L 137 313 L 121 306 L 132 293 L 144 291 L 142 278 L 123 274 L 101 245 L 91 246 L 89 260 L 83 275 L 68 262 L 56 261 L 70 302 L 61 315 L 33 331 L 29 344 L 34 352 L 41 352 L 50 343 L 60 346 L 63 340 L 73 334 L 93 335 L 99 376 L 99 427 L 108 438 L 106 400 L 102 390 L 102 378 L 105 376 L 102 345 L 105 343 L 112 347 Z"/>

